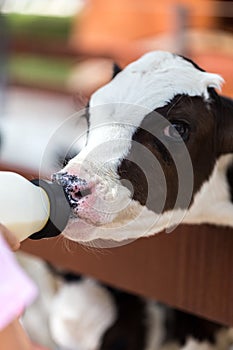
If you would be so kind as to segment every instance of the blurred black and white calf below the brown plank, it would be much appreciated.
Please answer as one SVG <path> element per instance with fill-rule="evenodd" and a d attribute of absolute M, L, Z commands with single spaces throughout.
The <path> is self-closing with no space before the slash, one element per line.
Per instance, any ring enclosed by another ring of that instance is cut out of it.
<path fill-rule="evenodd" d="M 23 252 L 17 257 L 40 291 L 22 317 L 23 326 L 34 342 L 49 349 L 232 350 L 233 328 Z"/>

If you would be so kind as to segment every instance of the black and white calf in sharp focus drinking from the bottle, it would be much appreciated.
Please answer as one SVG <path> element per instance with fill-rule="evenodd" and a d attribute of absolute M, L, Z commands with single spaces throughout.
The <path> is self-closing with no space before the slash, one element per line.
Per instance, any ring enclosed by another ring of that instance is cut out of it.
<path fill-rule="evenodd" d="M 162 51 L 90 98 L 86 146 L 53 176 L 68 238 L 123 241 L 183 223 L 233 226 L 233 102 L 223 79 Z"/>

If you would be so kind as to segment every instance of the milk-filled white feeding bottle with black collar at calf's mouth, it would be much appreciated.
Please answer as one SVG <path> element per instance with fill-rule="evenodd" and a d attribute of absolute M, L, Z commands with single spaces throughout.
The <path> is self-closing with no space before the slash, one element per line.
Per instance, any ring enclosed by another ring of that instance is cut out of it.
<path fill-rule="evenodd" d="M 53 237 L 65 228 L 70 206 L 63 188 L 0 171 L 0 222 L 20 241 Z"/>

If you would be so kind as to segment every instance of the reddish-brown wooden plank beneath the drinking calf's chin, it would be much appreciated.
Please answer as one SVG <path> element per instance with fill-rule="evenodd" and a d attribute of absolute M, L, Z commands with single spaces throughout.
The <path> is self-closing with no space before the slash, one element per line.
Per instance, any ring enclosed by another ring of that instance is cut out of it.
<path fill-rule="evenodd" d="M 233 326 L 233 230 L 180 226 L 112 249 L 61 237 L 27 240 L 23 250 L 110 285 Z"/>

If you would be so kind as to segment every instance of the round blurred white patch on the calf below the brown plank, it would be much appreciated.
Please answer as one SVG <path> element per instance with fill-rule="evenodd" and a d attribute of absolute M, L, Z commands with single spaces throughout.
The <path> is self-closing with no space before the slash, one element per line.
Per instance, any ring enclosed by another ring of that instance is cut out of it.
<path fill-rule="evenodd" d="M 115 304 L 106 288 L 92 279 L 65 284 L 50 313 L 55 343 L 69 350 L 96 350 L 116 319 Z"/>

